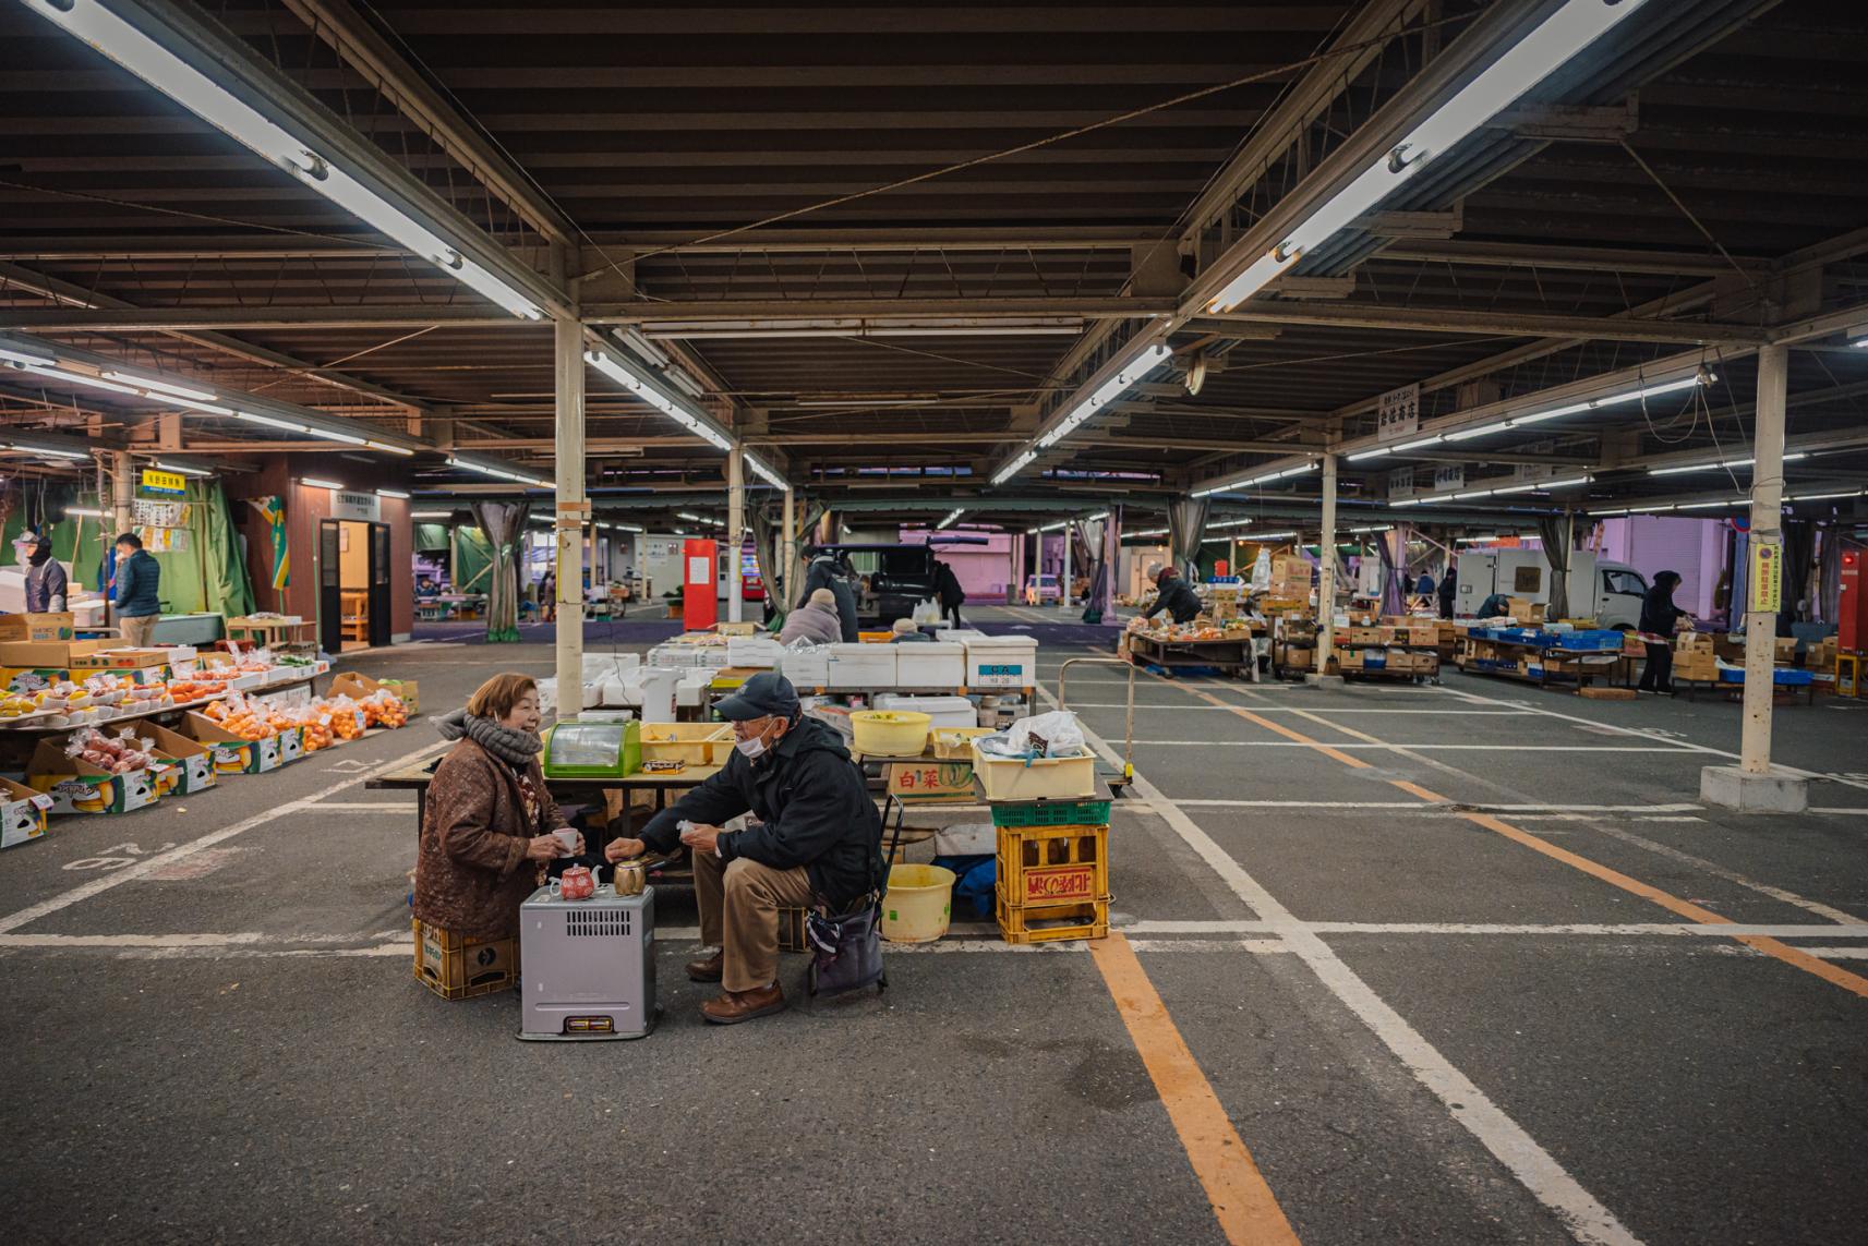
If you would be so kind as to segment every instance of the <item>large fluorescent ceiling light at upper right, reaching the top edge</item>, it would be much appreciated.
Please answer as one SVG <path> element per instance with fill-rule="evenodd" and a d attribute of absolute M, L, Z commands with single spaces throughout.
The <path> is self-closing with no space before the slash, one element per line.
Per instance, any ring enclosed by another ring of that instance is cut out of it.
<path fill-rule="evenodd" d="M 1207 310 L 1227 312 L 1250 299 L 1337 230 L 1382 202 L 1422 166 L 1491 121 L 1519 95 L 1543 82 L 1554 69 L 1642 7 L 1642 2 L 1569 0 L 1564 4 L 1440 105 L 1433 116 L 1408 131 L 1362 176 L 1293 226 L 1276 247 L 1253 260 L 1244 273 L 1207 303 Z"/>

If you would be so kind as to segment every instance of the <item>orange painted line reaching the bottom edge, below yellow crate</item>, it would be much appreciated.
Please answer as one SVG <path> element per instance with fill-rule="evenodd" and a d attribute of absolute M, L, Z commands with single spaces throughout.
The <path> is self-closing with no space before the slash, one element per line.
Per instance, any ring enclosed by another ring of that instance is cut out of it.
<path fill-rule="evenodd" d="M 1194 1175 L 1207 1190 L 1225 1240 L 1240 1246 L 1296 1246 L 1296 1233 L 1278 1197 L 1233 1128 L 1220 1097 L 1212 1093 L 1207 1074 L 1194 1061 L 1181 1029 L 1168 1016 L 1136 949 L 1119 932 L 1110 932 L 1108 938 L 1091 940 L 1089 955 L 1102 970 L 1115 1011 L 1154 1080 L 1154 1091 L 1181 1136 Z"/>

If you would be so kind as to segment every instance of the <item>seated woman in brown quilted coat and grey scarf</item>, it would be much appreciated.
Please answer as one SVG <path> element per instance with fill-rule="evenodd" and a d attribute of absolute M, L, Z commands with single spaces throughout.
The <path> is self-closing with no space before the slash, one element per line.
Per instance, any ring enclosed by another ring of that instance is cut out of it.
<path fill-rule="evenodd" d="M 564 828 L 538 753 L 538 686 L 527 674 L 495 674 L 441 719 L 458 743 L 428 785 L 428 818 L 415 857 L 415 915 L 469 940 L 519 932 L 519 904 L 566 850 Z"/>

